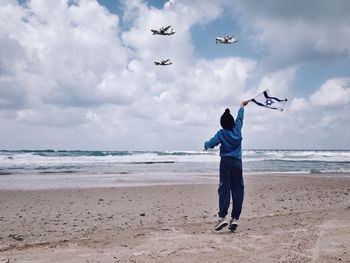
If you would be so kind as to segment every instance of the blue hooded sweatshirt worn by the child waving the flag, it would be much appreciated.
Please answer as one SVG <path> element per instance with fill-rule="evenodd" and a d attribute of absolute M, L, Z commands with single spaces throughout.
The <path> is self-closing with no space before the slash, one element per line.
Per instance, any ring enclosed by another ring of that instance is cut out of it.
<path fill-rule="evenodd" d="M 240 107 L 237 118 L 235 120 L 235 127 L 232 130 L 219 130 L 213 138 L 204 143 L 204 148 L 214 148 L 220 145 L 220 156 L 233 157 L 242 159 L 242 126 L 243 126 L 244 108 Z"/>

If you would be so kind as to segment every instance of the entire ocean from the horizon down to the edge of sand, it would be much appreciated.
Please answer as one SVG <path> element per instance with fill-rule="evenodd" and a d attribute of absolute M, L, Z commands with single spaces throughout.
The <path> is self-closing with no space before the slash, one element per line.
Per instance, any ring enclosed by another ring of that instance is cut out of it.
<path fill-rule="evenodd" d="M 0 150 L 0 189 L 217 181 L 218 151 Z M 350 174 L 350 151 L 244 150 L 244 174 Z"/>

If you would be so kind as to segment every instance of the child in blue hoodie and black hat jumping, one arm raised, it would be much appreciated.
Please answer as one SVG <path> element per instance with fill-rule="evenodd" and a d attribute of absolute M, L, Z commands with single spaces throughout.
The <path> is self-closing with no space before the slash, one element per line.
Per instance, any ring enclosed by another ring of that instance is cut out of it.
<path fill-rule="evenodd" d="M 244 184 L 242 175 L 242 126 L 244 107 L 249 101 L 243 101 L 238 110 L 236 121 L 226 109 L 220 118 L 220 129 L 213 138 L 204 143 L 204 148 L 214 148 L 220 145 L 220 184 L 219 184 L 219 221 L 215 230 L 220 231 L 228 225 L 226 221 L 227 211 L 230 207 L 230 195 L 232 195 L 232 213 L 229 229 L 235 231 L 237 220 L 242 211 Z"/>

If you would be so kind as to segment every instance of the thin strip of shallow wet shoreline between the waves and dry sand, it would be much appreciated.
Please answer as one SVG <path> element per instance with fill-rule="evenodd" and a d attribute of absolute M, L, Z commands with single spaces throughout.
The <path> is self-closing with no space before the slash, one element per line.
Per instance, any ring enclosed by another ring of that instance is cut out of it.
<path fill-rule="evenodd" d="M 35 174 L 0 176 L 0 191 L 36 191 L 144 186 L 217 184 L 218 172 L 152 174 Z M 65 177 L 66 176 L 66 177 Z M 350 178 L 350 172 L 244 172 L 244 177 L 329 177 Z M 1 263 L 1 262 L 0 262 Z"/>

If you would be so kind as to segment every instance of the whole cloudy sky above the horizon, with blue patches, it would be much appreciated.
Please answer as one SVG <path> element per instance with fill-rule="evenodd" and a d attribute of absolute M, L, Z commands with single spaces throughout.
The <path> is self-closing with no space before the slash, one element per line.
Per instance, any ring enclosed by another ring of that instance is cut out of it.
<path fill-rule="evenodd" d="M 201 150 L 226 107 L 269 88 L 285 111 L 249 104 L 244 148 L 350 149 L 349 13 L 348 0 L 0 0 L 0 148 Z M 228 34 L 239 42 L 215 44 Z"/>

